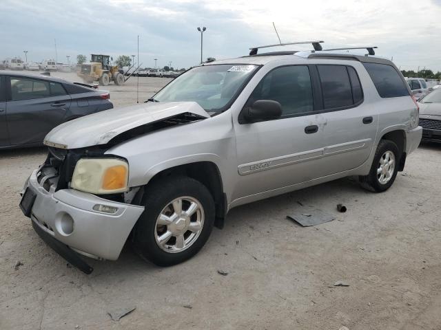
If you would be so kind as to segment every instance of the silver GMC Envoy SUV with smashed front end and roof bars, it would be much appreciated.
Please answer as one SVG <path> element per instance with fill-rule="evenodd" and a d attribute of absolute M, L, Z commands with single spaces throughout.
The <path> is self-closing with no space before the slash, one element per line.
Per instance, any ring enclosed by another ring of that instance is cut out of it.
<path fill-rule="evenodd" d="M 21 209 L 72 265 L 127 239 L 156 265 L 196 254 L 229 210 L 357 175 L 387 190 L 418 147 L 418 107 L 391 61 L 256 54 L 194 67 L 144 104 L 66 122 Z"/>

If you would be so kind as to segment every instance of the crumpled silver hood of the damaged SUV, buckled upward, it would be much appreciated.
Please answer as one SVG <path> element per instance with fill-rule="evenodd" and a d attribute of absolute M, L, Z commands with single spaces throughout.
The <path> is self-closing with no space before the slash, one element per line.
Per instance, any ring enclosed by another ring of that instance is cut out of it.
<path fill-rule="evenodd" d="M 147 102 L 65 122 L 46 135 L 44 144 L 68 149 L 106 144 L 125 131 L 181 113 L 209 118 L 207 111 L 196 102 Z"/>

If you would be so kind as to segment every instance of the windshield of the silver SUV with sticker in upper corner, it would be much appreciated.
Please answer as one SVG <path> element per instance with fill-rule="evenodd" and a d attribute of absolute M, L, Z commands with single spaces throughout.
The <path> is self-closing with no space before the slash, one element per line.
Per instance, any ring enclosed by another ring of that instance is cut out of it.
<path fill-rule="evenodd" d="M 220 112 L 233 100 L 257 65 L 206 65 L 178 76 L 154 96 L 154 101 L 197 102 L 207 112 Z"/>

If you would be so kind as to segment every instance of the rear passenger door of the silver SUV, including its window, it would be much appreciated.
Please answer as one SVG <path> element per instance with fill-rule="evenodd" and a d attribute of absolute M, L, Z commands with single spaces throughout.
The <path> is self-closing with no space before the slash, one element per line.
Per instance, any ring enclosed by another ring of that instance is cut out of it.
<path fill-rule="evenodd" d="M 353 66 L 317 65 L 317 69 L 324 111 L 321 175 L 325 176 L 357 168 L 369 158 L 376 139 L 378 111 L 371 102 L 364 102 Z"/>

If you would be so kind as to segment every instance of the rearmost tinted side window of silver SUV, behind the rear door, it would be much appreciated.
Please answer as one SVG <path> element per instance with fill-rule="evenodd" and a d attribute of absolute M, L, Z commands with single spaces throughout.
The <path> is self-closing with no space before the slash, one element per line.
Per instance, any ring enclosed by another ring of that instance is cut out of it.
<path fill-rule="evenodd" d="M 382 98 L 408 96 L 409 91 L 401 76 L 391 65 L 378 63 L 363 63 Z"/>

